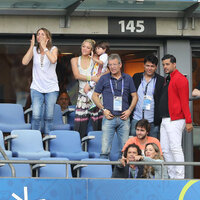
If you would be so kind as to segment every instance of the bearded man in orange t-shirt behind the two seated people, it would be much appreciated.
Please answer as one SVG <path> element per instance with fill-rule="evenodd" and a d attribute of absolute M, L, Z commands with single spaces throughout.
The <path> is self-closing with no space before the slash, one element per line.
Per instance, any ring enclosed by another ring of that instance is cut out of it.
<path fill-rule="evenodd" d="M 136 136 L 131 137 L 127 140 L 126 144 L 124 145 L 122 149 L 122 152 L 125 151 L 127 146 L 135 143 L 142 150 L 142 154 L 144 154 L 145 145 L 147 143 L 155 143 L 159 147 L 161 155 L 162 155 L 162 149 L 161 149 L 159 140 L 155 137 L 148 136 L 150 129 L 151 129 L 151 125 L 148 122 L 148 120 L 146 119 L 139 120 L 135 125 Z"/>

